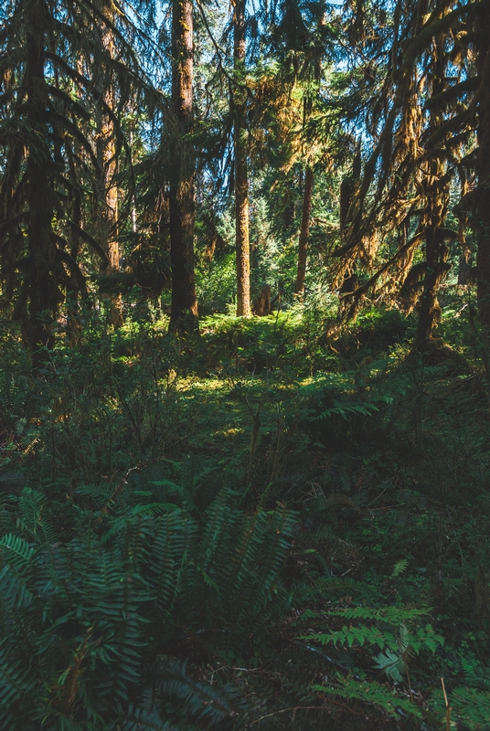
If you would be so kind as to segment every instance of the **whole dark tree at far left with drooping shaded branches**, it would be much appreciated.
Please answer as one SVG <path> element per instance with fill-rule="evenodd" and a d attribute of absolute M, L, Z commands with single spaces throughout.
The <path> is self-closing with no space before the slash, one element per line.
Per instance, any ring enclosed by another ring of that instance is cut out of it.
<path fill-rule="evenodd" d="M 84 0 L 76 8 L 19 0 L 2 13 L 2 276 L 5 299 L 22 324 L 38 370 L 53 345 L 52 326 L 67 292 L 72 302 L 75 294 L 86 293 L 80 242 L 104 266 L 109 263 L 93 225 L 101 170 L 90 121 L 101 107 L 116 131 L 119 122 L 104 101 L 105 90 L 93 83 L 95 64 L 117 68 L 120 109 L 134 88 L 144 85 L 144 74 L 128 36 L 104 8 Z M 124 22 L 120 12 L 118 23 Z M 117 60 L 107 48 L 93 53 L 94 30 L 101 28 L 112 33 Z"/>

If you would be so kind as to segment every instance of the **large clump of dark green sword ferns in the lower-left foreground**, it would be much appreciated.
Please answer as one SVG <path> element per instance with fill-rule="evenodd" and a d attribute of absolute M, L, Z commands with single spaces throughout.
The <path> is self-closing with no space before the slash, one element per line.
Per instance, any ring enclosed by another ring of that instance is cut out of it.
<path fill-rule="evenodd" d="M 176 494 L 171 481 L 158 486 Z M 169 705 L 175 727 L 236 713 L 231 687 L 198 683 L 186 662 L 165 654 L 182 632 L 197 638 L 203 628 L 211 637 L 219 628 L 210 658 L 243 652 L 250 632 L 249 654 L 261 654 L 264 631 L 286 608 L 279 573 L 295 516 L 285 508 L 244 514 L 233 506 L 236 493 L 223 489 L 198 521 L 178 494 L 177 503 L 135 503 L 151 495 L 129 491 L 125 482 L 107 502 L 97 487 L 75 489 L 66 507 L 76 525 L 68 542 L 48 544 L 39 530 L 35 545 L 18 535 L 1 540 L 5 727 L 34 727 L 42 717 L 47 728 L 65 721 L 131 728 L 132 715 L 133 723 L 168 718 Z M 46 498 L 27 489 L 19 503 L 32 533 L 29 511 L 39 522 Z M 84 507 L 90 503 L 95 512 Z M 149 647 L 156 654 L 147 657 Z M 39 662 L 26 668 L 22 658 L 30 656 Z M 150 691 L 159 700 L 148 715 Z"/>

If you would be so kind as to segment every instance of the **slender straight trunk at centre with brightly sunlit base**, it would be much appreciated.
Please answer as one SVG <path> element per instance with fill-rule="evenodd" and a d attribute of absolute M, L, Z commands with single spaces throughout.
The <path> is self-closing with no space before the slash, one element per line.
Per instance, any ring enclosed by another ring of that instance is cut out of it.
<path fill-rule="evenodd" d="M 237 316 L 251 317 L 248 135 L 245 124 L 246 92 L 241 87 L 245 72 L 245 0 L 237 0 L 233 25 L 233 58 L 239 86 L 233 95 L 235 115 L 235 234 L 237 249 Z"/>

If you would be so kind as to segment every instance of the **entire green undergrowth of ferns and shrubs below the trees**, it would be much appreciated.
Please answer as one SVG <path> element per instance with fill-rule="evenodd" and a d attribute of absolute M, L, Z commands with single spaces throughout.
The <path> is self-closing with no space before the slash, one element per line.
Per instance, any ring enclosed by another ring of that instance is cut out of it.
<path fill-rule="evenodd" d="M 487 415 L 308 317 L 213 315 L 191 355 L 94 318 L 44 381 L 10 344 L 2 726 L 438 729 L 443 676 L 485 727 Z"/>

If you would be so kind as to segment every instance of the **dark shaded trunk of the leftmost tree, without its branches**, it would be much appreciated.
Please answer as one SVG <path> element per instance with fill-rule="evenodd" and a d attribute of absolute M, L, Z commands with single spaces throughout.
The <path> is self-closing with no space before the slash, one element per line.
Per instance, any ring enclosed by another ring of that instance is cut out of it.
<path fill-rule="evenodd" d="M 44 348 L 53 346 L 51 324 L 61 299 L 52 265 L 56 249 L 52 240 L 52 204 L 49 196 L 48 170 L 51 155 L 48 130 L 43 122 L 48 105 L 44 79 L 44 7 L 38 0 L 26 3 L 27 64 L 24 84 L 27 90 L 28 117 L 31 142 L 27 153 L 28 188 L 28 323 L 27 334 L 32 352 L 34 370 L 46 362 Z"/>

